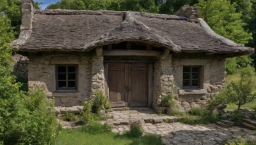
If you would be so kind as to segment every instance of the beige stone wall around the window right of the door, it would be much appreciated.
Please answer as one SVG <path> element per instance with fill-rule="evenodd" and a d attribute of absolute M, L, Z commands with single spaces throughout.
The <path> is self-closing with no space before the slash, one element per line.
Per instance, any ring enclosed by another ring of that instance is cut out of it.
<path fill-rule="evenodd" d="M 207 106 L 211 98 L 225 88 L 225 58 L 223 57 L 173 57 L 174 95 L 180 111 Z M 200 66 L 200 88 L 183 89 L 183 66 Z"/>

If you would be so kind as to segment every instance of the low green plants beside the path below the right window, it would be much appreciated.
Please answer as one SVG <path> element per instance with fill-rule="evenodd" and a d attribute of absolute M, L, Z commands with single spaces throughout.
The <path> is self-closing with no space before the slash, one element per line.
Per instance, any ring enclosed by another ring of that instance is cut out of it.
<path fill-rule="evenodd" d="M 205 108 L 192 108 L 187 114 L 180 118 L 180 122 L 193 124 L 215 123 L 221 118 L 218 114 L 211 113 Z"/>

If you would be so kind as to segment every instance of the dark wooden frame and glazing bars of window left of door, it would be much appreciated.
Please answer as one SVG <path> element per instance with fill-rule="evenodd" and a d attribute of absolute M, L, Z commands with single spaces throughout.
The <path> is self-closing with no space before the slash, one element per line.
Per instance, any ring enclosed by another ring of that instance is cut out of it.
<path fill-rule="evenodd" d="M 58 67 L 59 66 L 65 66 L 66 67 L 66 72 L 59 72 L 59 70 L 58 70 Z M 68 67 L 69 66 L 74 66 L 74 67 L 76 67 L 76 72 L 68 72 Z M 60 64 L 60 65 L 56 65 L 56 72 L 55 72 L 55 74 L 56 74 L 56 90 L 77 90 L 77 78 L 78 78 L 78 66 L 76 65 L 76 64 Z M 66 74 L 66 77 L 65 77 L 65 81 L 66 81 L 66 86 L 65 87 L 59 87 L 59 81 L 60 81 L 60 79 L 58 78 L 59 77 L 59 75 L 58 74 Z M 76 74 L 76 79 L 68 79 L 68 74 L 72 74 L 72 73 L 74 73 L 74 74 Z M 75 87 L 68 87 L 68 81 L 75 81 Z"/>

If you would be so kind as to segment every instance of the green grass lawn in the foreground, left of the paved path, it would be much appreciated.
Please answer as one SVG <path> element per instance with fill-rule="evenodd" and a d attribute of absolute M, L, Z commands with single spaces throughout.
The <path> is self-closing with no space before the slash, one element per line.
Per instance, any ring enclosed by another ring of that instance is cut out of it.
<path fill-rule="evenodd" d="M 138 138 L 127 138 L 123 135 L 118 135 L 113 132 L 103 133 L 103 134 L 89 134 L 86 132 L 81 132 L 79 129 L 61 130 L 61 134 L 58 135 L 57 145 L 79 145 L 79 144 L 162 144 L 161 137 L 156 137 L 156 135 L 145 135 Z"/>

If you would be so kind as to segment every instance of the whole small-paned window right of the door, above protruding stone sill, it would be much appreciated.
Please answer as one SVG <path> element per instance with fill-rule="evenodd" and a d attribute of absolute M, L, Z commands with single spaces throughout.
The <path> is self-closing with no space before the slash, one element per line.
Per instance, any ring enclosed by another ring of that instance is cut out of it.
<path fill-rule="evenodd" d="M 200 88 L 200 66 L 183 66 L 183 88 Z"/>

